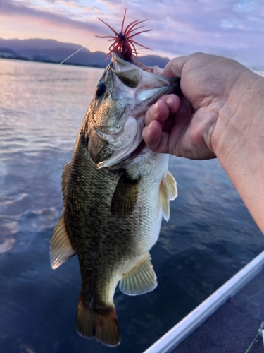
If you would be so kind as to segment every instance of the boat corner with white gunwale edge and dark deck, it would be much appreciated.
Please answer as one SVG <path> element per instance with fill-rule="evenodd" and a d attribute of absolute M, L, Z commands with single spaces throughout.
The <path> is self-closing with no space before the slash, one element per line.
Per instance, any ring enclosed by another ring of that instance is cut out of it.
<path fill-rule="evenodd" d="M 264 353 L 264 251 L 144 353 Z"/>

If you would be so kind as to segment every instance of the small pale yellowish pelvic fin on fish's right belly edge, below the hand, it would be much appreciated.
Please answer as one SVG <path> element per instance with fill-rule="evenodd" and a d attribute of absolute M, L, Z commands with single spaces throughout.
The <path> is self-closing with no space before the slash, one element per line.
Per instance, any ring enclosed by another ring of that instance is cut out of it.
<path fill-rule="evenodd" d="M 170 200 L 174 200 L 176 197 L 177 184 L 172 174 L 168 171 L 160 185 L 160 206 L 166 221 L 170 218 Z"/>

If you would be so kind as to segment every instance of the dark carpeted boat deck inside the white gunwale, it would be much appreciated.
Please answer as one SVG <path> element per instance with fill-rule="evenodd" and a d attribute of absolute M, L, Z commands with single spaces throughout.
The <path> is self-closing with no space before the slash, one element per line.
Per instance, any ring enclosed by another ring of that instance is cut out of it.
<path fill-rule="evenodd" d="M 262 321 L 264 269 L 171 352 L 245 353 Z M 264 352 L 260 335 L 249 352 Z"/>

